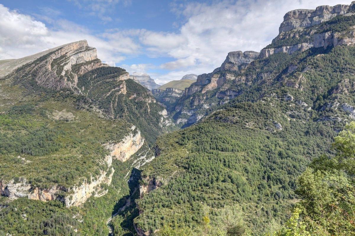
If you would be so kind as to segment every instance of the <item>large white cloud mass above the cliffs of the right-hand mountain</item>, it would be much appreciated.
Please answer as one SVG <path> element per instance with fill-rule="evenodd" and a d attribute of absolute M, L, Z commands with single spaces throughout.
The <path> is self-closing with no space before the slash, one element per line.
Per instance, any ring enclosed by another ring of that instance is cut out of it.
<path fill-rule="evenodd" d="M 147 50 L 175 58 L 160 67 L 171 71 L 159 80 L 178 79 L 186 71 L 211 72 L 230 51 L 260 51 L 278 34 L 286 12 L 319 5 L 349 4 L 339 0 L 213 1 L 212 4 L 182 1 L 172 11 L 185 18 L 179 33 L 145 32 L 140 37 Z"/>

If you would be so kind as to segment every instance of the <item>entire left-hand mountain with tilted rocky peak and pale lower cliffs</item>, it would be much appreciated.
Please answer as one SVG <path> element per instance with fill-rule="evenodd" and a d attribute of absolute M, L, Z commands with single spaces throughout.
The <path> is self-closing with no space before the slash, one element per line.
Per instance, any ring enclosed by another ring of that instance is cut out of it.
<path fill-rule="evenodd" d="M 102 219 L 154 158 L 166 110 L 86 40 L 9 60 L 0 73 L 0 234 L 107 235 Z"/>

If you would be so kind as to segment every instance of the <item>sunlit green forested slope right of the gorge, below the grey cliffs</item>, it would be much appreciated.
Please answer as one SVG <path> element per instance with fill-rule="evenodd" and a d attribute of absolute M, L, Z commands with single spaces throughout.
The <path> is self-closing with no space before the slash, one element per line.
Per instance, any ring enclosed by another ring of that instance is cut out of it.
<path fill-rule="evenodd" d="M 335 133 L 321 123 L 289 122 L 279 114 L 261 102 L 239 103 L 158 138 L 160 156 L 142 175 L 165 184 L 137 200 L 144 209 L 137 225 L 144 231 L 174 225 L 195 229 L 202 224 L 203 204 L 212 215 L 239 204 L 255 233 L 273 220 L 285 222 L 287 208 L 297 201 L 297 176 L 311 157 L 331 153 Z"/>

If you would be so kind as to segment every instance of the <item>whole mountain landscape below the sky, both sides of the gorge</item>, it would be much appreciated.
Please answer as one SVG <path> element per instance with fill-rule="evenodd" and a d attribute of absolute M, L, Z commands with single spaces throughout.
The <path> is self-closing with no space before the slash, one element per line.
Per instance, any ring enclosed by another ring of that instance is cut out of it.
<path fill-rule="evenodd" d="M 163 86 L 86 40 L 0 61 L 0 235 L 353 235 L 354 45 L 352 2 Z"/>

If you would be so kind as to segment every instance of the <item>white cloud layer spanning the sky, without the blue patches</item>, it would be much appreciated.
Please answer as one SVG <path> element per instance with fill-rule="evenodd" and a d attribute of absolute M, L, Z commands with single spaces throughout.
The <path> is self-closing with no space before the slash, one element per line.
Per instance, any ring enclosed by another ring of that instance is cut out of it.
<path fill-rule="evenodd" d="M 116 4 L 131 4 L 131 1 L 124 0 L 72 1 L 96 16 L 104 16 Z M 181 2 L 171 4 L 173 13 L 179 19 L 179 23 L 174 25 L 180 25 L 175 32 L 152 31 L 142 27 L 107 29 L 100 34 L 93 34 L 90 29 L 63 19 L 56 19 L 51 23 L 53 28 L 48 28 L 43 22 L 0 4 L 0 59 L 20 58 L 87 39 L 90 46 L 97 48 L 100 59 L 110 65 L 123 64 L 121 66 L 130 73 L 168 70 L 163 74 L 150 73 L 152 78 L 163 84 L 178 80 L 185 74 L 209 73 L 222 64 L 230 51 L 260 51 L 277 36 L 283 16 L 290 10 L 350 3 L 343 0 Z M 52 12 L 56 17 L 61 16 L 55 9 L 43 10 Z M 132 61 L 132 58 L 142 55 L 173 59 L 160 65 L 149 62 L 127 65 L 124 62 L 126 58 Z"/>

